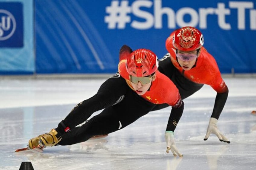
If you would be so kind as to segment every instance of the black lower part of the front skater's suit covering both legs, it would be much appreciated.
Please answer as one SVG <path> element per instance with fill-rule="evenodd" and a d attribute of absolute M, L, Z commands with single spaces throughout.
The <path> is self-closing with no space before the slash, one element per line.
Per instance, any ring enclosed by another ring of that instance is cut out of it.
<path fill-rule="evenodd" d="M 125 79 L 120 77 L 120 74 L 115 74 L 101 85 L 96 95 L 75 106 L 62 124 L 58 125 L 56 130 L 62 137 L 58 145 L 72 145 L 86 141 L 94 135 L 109 134 L 120 130 L 149 113 L 155 105 L 134 92 Z M 181 112 L 179 114 L 181 116 L 183 108 L 184 103 L 180 108 L 172 109 L 171 112 Z M 101 109 L 104 110 L 100 114 L 92 117 L 81 127 L 75 127 Z M 167 130 L 175 128 L 171 122 L 168 121 Z M 65 133 L 63 124 L 71 131 Z"/>

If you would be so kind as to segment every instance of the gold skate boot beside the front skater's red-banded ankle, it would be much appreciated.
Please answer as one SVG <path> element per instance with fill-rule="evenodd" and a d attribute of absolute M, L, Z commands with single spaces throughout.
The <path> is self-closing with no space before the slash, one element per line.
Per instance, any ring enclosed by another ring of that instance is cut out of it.
<path fill-rule="evenodd" d="M 43 146 L 54 146 L 62 139 L 55 129 L 52 129 L 49 133 L 40 135 L 39 137 L 40 145 Z"/>

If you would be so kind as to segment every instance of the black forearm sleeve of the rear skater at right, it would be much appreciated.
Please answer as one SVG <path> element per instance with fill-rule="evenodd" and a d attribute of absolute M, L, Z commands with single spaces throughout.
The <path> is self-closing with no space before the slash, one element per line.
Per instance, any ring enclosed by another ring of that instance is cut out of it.
<path fill-rule="evenodd" d="M 217 93 L 215 98 L 215 103 L 213 107 L 213 114 L 211 115 L 211 118 L 219 119 L 219 116 L 224 108 L 224 105 L 227 101 L 229 94 L 229 90 L 227 89 L 224 93 Z"/>

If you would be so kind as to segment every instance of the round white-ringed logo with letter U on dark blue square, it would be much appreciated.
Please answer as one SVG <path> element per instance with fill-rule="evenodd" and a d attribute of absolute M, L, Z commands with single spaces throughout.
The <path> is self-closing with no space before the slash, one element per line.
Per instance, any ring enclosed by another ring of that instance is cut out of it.
<path fill-rule="evenodd" d="M 14 16 L 6 10 L 0 9 L 0 41 L 10 38 L 16 30 Z"/>

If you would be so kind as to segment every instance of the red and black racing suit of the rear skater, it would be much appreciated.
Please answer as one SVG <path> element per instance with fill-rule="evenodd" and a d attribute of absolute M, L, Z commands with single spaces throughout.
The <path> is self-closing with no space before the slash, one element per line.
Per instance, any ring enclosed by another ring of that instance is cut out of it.
<path fill-rule="evenodd" d="M 174 32 L 171 33 L 171 36 L 173 35 Z M 170 39 L 172 39 L 171 36 Z M 158 70 L 174 82 L 182 99 L 200 90 L 204 84 L 210 85 L 217 92 L 211 117 L 218 119 L 226 103 L 229 90 L 213 56 L 202 47 L 195 65 L 185 71 L 178 63 L 174 46 L 170 43 L 166 48 L 169 53 L 159 60 Z M 166 104 L 158 105 L 153 110 L 167 106 Z"/>

